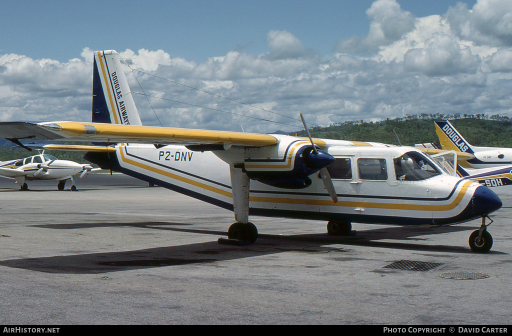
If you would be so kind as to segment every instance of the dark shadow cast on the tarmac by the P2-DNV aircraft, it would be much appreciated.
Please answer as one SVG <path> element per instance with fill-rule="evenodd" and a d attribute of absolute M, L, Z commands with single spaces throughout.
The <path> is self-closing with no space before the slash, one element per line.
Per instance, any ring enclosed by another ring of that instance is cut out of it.
<path fill-rule="evenodd" d="M 76 229 L 91 227 L 135 226 L 157 230 L 174 230 L 191 234 L 208 234 L 226 236 L 226 232 L 186 228 L 192 224 L 170 222 L 141 222 L 141 223 L 84 223 L 84 224 L 47 224 L 33 225 L 52 229 Z M 0 261 L 1 266 L 30 269 L 41 272 L 61 274 L 101 274 L 106 272 L 164 267 L 195 263 L 210 263 L 216 261 L 236 260 L 241 258 L 278 254 L 286 251 L 302 253 L 344 253 L 344 248 L 332 245 L 370 246 L 376 248 L 394 248 L 416 251 L 431 251 L 444 253 L 473 253 L 469 247 L 427 245 L 410 241 L 425 239 L 414 238 L 429 234 L 458 232 L 473 229 L 467 226 L 450 226 L 437 228 L 417 227 L 385 227 L 364 230 L 356 236 L 332 237 L 322 234 L 300 235 L 266 235 L 260 234 L 258 241 L 246 246 L 219 244 L 216 241 L 195 243 L 178 246 L 157 247 L 121 252 L 78 254 L 69 256 L 54 256 L 41 258 L 10 259 Z M 409 242 L 383 242 L 392 239 Z M 440 238 L 441 240 L 441 238 Z M 331 246 L 330 246 L 331 245 Z M 504 254 L 499 251 L 489 251 L 489 254 Z M 339 256 L 338 256 L 339 257 Z M 353 256 L 347 260 L 353 260 Z M 336 258 L 343 260 L 343 258 Z"/>

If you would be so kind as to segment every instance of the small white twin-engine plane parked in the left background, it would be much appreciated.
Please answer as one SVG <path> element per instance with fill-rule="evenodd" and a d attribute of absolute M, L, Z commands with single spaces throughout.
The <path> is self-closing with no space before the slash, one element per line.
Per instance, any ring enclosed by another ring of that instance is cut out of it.
<path fill-rule="evenodd" d="M 50 145 L 51 146 L 51 145 Z M 50 154 L 38 154 L 9 161 L 0 161 L 0 176 L 16 179 L 21 190 L 28 190 L 25 181 L 35 180 L 58 180 L 57 189 L 64 190 L 66 181 L 71 179 L 73 182 L 71 190 L 75 191 L 75 181 L 73 177 L 84 175 L 93 170 L 90 164 L 80 164 L 68 160 L 58 160 Z"/>

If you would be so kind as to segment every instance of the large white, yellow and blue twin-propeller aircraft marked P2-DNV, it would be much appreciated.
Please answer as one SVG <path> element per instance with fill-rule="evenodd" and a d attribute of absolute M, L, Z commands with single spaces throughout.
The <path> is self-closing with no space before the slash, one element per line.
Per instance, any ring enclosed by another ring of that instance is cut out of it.
<path fill-rule="evenodd" d="M 231 240 L 257 239 L 249 215 L 325 220 L 331 235 L 348 234 L 352 222 L 439 226 L 482 218 L 470 247 L 492 246 L 485 218 L 501 207 L 499 197 L 447 175 L 418 149 L 144 127 L 117 53 L 95 52 L 93 70 L 93 122 L 4 122 L 0 136 L 101 142 L 103 150 L 84 158 L 233 211 Z"/>

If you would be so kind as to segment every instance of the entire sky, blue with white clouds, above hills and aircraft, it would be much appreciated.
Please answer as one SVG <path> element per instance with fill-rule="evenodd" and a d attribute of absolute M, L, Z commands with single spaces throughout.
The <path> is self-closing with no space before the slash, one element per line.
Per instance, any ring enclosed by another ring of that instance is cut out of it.
<path fill-rule="evenodd" d="M 512 116 L 510 0 L 4 0 L 0 29 L 2 121 L 90 120 L 92 52 L 108 49 L 152 96 L 134 94 L 146 125 Z"/>

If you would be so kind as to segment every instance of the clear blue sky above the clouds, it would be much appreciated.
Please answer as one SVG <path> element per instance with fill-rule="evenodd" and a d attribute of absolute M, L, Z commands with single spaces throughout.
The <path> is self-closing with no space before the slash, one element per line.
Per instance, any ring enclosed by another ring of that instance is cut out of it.
<path fill-rule="evenodd" d="M 443 14 L 456 0 L 399 1 L 417 17 Z M 92 50 L 163 49 L 196 62 L 230 50 L 264 53 L 267 32 L 288 31 L 329 54 L 336 40 L 368 33 L 372 0 L 3 0 L 0 53 L 61 62 Z M 476 1 L 464 1 L 473 7 Z"/>

